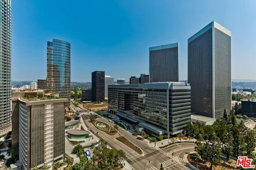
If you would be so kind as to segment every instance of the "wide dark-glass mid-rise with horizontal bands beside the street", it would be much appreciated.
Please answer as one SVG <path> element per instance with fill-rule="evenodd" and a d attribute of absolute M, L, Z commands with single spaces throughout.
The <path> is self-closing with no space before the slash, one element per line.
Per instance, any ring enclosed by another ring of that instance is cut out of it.
<path fill-rule="evenodd" d="M 108 109 L 111 114 L 124 114 L 127 120 L 149 124 L 144 124 L 146 131 L 152 132 L 152 126 L 155 126 L 158 130 L 152 133 L 156 135 L 180 133 L 190 122 L 189 84 L 114 84 L 109 85 L 108 90 Z"/>

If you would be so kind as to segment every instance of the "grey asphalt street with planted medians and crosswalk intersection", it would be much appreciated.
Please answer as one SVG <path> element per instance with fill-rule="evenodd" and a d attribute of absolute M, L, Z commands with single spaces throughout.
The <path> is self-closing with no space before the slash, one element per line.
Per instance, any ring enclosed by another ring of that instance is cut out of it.
<path fill-rule="evenodd" d="M 120 135 L 124 136 L 127 140 L 131 141 L 134 145 L 139 147 L 143 155 L 139 155 L 137 152 L 133 151 L 129 147 L 125 146 L 123 143 L 117 141 L 115 138 L 119 137 L 116 135 L 108 135 L 103 131 L 98 130 L 95 126 L 90 123 L 88 119 L 89 116 L 93 112 L 83 112 L 81 113 L 83 117 L 83 121 L 85 125 L 91 129 L 91 132 L 97 135 L 97 137 L 108 141 L 108 144 L 111 148 L 122 149 L 126 154 L 126 161 L 132 167 L 126 169 L 150 169 L 156 170 L 160 168 L 160 164 L 162 163 L 164 169 L 189 169 L 186 167 L 186 162 L 184 155 L 186 152 L 194 151 L 194 143 L 179 143 L 165 149 L 152 148 L 149 147 L 148 143 L 145 140 L 138 140 L 134 135 L 130 132 L 119 128 L 118 132 Z M 86 116 L 84 116 L 85 114 Z M 97 120 L 110 124 L 114 126 L 113 123 L 110 123 L 104 117 L 98 117 Z M 99 132 L 99 134 L 97 134 Z M 172 157 L 172 151 L 174 152 L 174 156 Z"/>

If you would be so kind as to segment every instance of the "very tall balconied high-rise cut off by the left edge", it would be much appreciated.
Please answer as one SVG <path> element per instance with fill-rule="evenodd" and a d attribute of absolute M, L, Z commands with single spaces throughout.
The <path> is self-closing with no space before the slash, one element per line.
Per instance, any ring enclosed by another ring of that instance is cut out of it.
<path fill-rule="evenodd" d="M 0 3 L 0 136 L 11 131 L 11 0 Z"/>

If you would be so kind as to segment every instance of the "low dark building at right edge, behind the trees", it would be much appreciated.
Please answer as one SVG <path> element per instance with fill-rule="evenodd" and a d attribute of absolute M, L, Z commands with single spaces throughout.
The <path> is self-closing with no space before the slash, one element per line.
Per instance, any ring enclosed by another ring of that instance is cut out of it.
<path fill-rule="evenodd" d="M 256 100 L 242 100 L 242 113 L 256 118 Z"/>

